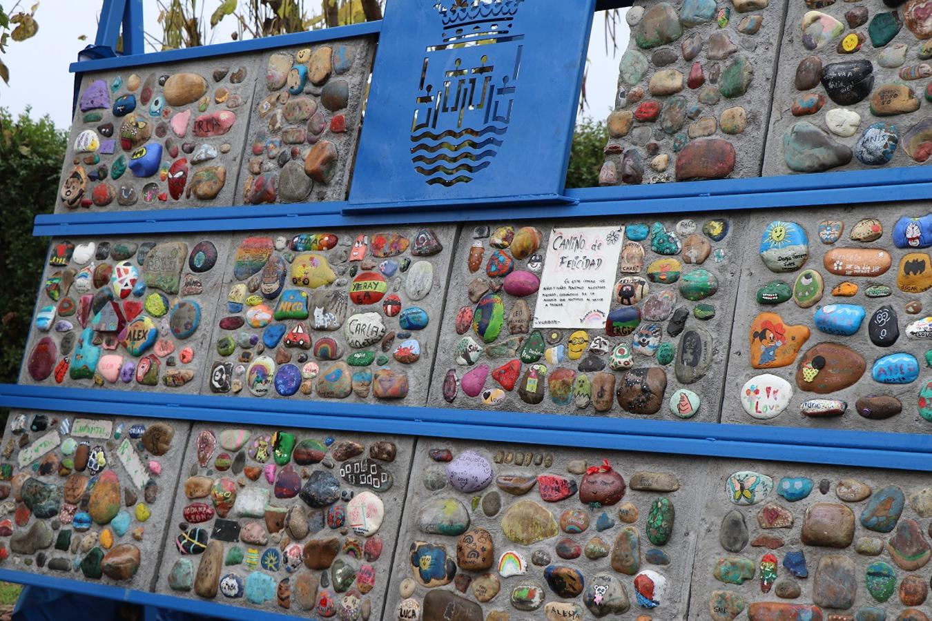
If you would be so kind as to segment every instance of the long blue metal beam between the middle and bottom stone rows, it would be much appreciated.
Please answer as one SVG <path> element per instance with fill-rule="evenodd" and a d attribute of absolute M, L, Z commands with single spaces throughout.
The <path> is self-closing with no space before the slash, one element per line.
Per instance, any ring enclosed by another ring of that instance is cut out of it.
<path fill-rule="evenodd" d="M 932 471 L 932 435 L 0 385 L 8 408 Z"/>

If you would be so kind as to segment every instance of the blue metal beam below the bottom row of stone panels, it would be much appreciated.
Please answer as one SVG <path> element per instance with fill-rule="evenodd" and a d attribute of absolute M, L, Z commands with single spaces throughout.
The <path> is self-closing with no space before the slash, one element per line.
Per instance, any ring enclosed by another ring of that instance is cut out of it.
<path fill-rule="evenodd" d="M 12 569 L 0 569 L 0 580 L 6 582 L 13 582 L 18 585 L 26 585 L 29 587 L 54 588 L 69 593 L 89 595 L 90 597 L 126 601 L 140 606 L 155 606 L 190 614 L 202 614 L 207 617 L 243 619 L 244 621 L 247 619 L 249 621 L 289 621 L 295 618 L 294 615 L 268 613 L 263 610 L 240 608 L 238 606 L 225 606 L 224 604 L 215 603 L 213 601 L 179 598 L 172 595 L 149 593 L 148 591 L 140 591 L 131 588 L 94 584 L 83 580 L 74 580 L 67 576 L 68 574 L 65 573 L 59 576 L 54 574 L 30 574 L 28 572 L 18 572 Z"/>

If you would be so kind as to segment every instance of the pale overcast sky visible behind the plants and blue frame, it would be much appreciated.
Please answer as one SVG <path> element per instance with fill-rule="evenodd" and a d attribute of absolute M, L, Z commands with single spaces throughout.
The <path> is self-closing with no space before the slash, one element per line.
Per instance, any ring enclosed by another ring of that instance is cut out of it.
<path fill-rule="evenodd" d="M 213 8 L 220 2 L 203 0 L 205 19 L 209 19 Z M 27 8 L 32 4 L 33 0 L 21 2 L 21 6 Z M 4 5 L 8 10 L 12 3 L 5 2 Z M 7 87 L 0 81 L 0 106 L 7 107 L 14 115 L 26 106 L 32 106 L 34 116 L 49 115 L 56 126 L 68 128 L 75 85 L 74 76 L 68 73 L 68 65 L 75 61 L 79 50 L 93 43 L 99 7 L 98 0 L 42 0 L 35 13 L 38 33 L 27 41 L 10 42 L 7 54 L 3 56 L 9 67 L 10 84 Z M 160 38 L 156 0 L 144 0 L 144 18 L 146 32 Z M 618 61 L 627 46 L 627 28 L 623 17 L 618 25 L 618 49 L 613 50 L 609 43 L 606 53 L 604 14 L 596 14 L 589 46 L 587 115 L 604 119 L 611 110 L 618 79 Z M 229 41 L 231 32 L 230 25 L 221 22 L 213 42 Z M 82 34 L 88 37 L 86 41 L 78 40 Z M 146 51 L 151 49 L 146 47 Z"/>

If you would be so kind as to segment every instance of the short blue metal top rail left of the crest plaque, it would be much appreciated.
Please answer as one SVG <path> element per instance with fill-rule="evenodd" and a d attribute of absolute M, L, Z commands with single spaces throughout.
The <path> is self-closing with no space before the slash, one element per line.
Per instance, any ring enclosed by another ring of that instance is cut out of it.
<path fill-rule="evenodd" d="M 311 30 L 304 33 L 278 34 L 261 39 L 247 39 L 245 41 L 230 41 L 216 43 L 210 46 L 185 47 L 170 49 L 164 52 L 149 52 L 147 54 L 132 54 L 115 56 L 113 58 L 97 59 L 94 61 L 76 61 L 68 66 L 73 74 L 87 73 L 89 71 L 105 71 L 107 69 L 123 69 L 124 67 L 139 67 L 150 64 L 165 64 L 177 61 L 196 61 L 198 59 L 215 56 L 229 56 L 246 52 L 262 51 L 275 47 L 300 46 L 308 43 L 321 43 L 346 39 L 352 36 L 377 34 L 382 29 L 382 21 L 365 21 L 363 23 Z"/>

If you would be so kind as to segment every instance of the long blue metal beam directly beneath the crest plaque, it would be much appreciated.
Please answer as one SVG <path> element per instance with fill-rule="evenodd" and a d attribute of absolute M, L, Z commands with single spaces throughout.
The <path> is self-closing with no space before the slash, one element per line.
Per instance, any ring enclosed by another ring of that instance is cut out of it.
<path fill-rule="evenodd" d="M 381 209 L 347 212 L 346 202 L 239 207 L 75 211 L 35 217 L 36 236 L 88 236 L 256 231 L 395 223 L 463 223 L 488 220 L 582 218 L 727 209 L 802 208 L 815 205 L 923 200 L 932 197 L 932 168 L 846 170 L 702 182 L 617 185 L 567 190 L 573 202 L 533 207 Z M 356 206 L 358 209 L 358 206 Z"/>

